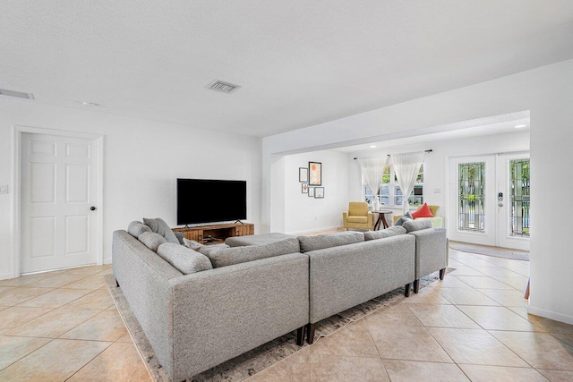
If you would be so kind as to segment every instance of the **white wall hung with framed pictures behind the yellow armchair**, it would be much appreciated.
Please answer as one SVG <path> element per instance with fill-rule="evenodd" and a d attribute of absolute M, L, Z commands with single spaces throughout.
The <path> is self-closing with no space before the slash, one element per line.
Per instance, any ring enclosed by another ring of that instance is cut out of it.
<path fill-rule="evenodd" d="M 298 168 L 308 162 L 322 163 L 324 199 L 310 198 L 302 193 Z M 284 231 L 310 233 L 342 226 L 342 211 L 348 208 L 348 156 L 337 151 L 315 151 L 284 157 Z M 272 184 L 279 192 L 280 182 Z M 273 193 L 274 196 L 274 193 Z M 275 198 L 273 198 L 275 199 Z M 275 231 L 275 227 L 271 228 Z"/>

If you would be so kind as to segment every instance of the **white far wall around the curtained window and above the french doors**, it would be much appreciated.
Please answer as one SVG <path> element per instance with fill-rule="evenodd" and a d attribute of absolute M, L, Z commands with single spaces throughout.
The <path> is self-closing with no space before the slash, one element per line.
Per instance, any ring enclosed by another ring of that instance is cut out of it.
<path fill-rule="evenodd" d="M 444 218 L 447 225 L 448 205 L 446 195 L 449 187 L 449 157 L 467 157 L 479 154 L 497 154 L 502 152 L 529 150 L 529 132 L 516 131 L 513 133 L 486 135 L 482 137 L 463 138 L 458 140 L 443 140 L 414 145 L 392 146 L 390 148 L 355 151 L 349 159 L 350 171 L 349 197 L 353 200 L 363 199 L 362 177 L 360 167 L 352 157 L 375 157 L 377 155 L 423 151 L 432 149 L 426 154 L 423 165 L 423 201 L 440 206 L 438 216 Z M 439 192 L 438 192 L 439 191 Z M 415 209 L 415 207 L 412 207 Z M 390 208 L 392 209 L 392 208 Z M 396 212 L 402 214 L 401 208 Z"/>

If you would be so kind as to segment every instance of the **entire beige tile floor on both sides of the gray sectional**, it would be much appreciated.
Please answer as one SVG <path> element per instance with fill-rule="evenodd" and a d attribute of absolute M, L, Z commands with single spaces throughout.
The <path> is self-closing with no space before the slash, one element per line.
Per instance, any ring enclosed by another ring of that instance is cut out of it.
<path fill-rule="evenodd" d="M 528 263 L 450 250 L 457 270 L 321 338 L 256 381 L 568 381 L 573 326 L 527 314 Z M 0 380 L 149 381 L 102 275 L 0 281 Z"/>

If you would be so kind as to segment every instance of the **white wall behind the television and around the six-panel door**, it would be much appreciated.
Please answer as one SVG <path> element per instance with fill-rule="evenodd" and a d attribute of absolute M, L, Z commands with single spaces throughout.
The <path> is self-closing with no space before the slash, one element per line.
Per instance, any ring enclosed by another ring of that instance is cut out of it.
<path fill-rule="evenodd" d="M 13 191 L 13 125 L 104 135 L 104 261 L 111 238 L 143 216 L 175 226 L 177 177 L 246 180 L 247 219 L 259 229 L 261 139 L 0 96 L 0 184 Z M 221 200 L 207 202 L 221 203 Z M 0 278 L 12 276 L 13 195 L 0 195 Z"/>

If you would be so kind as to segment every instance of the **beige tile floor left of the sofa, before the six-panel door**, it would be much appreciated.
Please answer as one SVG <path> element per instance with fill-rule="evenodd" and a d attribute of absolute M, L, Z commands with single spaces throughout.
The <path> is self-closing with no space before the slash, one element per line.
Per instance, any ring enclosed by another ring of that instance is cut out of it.
<path fill-rule="evenodd" d="M 109 272 L 0 280 L 0 381 L 150 381 L 107 291 Z"/>

